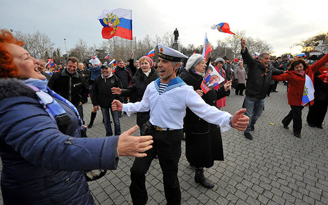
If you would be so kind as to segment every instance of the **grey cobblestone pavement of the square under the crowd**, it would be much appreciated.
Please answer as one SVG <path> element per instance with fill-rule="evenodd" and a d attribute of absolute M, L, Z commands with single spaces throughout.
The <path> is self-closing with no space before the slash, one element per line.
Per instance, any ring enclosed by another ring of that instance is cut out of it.
<path fill-rule="evenodd" d="M 222 110 L 233 113 L 241 108 L 244 96 L 236 96 L 234 91 Z M 204 172 L 215 184 L 213 189 L 195 183 L 182 141 L 178 172 L 182 204 L 328 204 L 328 117 L 323 129 L 312 128 L 306 124 L 309 109 L 304 108 L 301 138 L 295 138 L 292 129 L 286 130 L 281 124 L 290 110 L 286 86 L 279 83 L 278 91 L 265 99 L 265 110 L 251 132 L 252 141 L 235 129 L 222 133 L 224 161 L 215 162 Z M 86 124 L 91 109 L 90 102 L 84 105 Z M 122 115 L 122 131 L 132 127 L 135 120 L 134 114 L 130 118 Z M 91 138 L 105 136 L 101 121 L 99 111 L 94 126 L 88 129 Z M 138 134 L 139 130 L 135 132 Z M 133 160 L 120 157 L 117 170 L 89 183 L 96 204 L 132 203 L 129 170 Z M 158 160 L 152 162 L 146 177 L 147 204 L 166 204 Z"/>

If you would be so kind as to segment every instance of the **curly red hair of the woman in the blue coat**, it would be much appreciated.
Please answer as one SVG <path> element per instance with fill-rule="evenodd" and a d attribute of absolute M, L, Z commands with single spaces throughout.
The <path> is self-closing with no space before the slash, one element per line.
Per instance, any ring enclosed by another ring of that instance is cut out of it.
<path fill-rule="evenodd" d="M 19 69 L 13 62 L 13 57 L 7 50 L 7 44 L 13 43 L 23 46 L 23 41 L 18 41 L 7 30 L 2 29 L 0 33 L 0 78 L 17 78 Z"/>

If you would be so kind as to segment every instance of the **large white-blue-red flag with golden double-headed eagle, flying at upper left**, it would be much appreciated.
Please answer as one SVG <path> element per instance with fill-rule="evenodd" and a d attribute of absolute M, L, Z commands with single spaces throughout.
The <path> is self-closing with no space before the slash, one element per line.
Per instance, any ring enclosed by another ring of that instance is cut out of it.
<path fill-rule="evenodd" d="M 132 10 L 114 9 L 104 10 L 97 18 L 104 27 L 101 30 L 103 38 L 110 39 L 114 36 L 132 40 Z"/>

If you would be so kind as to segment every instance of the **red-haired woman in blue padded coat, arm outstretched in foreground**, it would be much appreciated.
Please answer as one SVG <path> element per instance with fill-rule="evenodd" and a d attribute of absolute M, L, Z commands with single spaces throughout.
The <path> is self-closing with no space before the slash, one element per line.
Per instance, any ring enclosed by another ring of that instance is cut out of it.
<path fill-rule="evenodd" d="M 4 204 L 95 204 L 84 170 L 116 169 L 118 156 L 145 156 L 141 152 L 152 148 L 152 137 L 131 136 L 134 126 L 119 136 L 81 138 L 83 124 L 76 108 L 47 87 L 38 61 L 23 44 L 1 31 Z"/>

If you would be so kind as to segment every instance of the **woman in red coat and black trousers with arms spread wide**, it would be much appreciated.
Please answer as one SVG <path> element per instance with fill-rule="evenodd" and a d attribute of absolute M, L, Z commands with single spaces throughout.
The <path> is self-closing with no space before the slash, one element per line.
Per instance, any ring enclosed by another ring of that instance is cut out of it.
<path fill-rule="evenodd" d="M 313 82 L 314 73 L 317 72 L 326 62 L 328 62 L 328 54 L 326 54 L 313 65 L 309 65 L 303 59 L 295 59 L 292 61 L 290 69 L 284 74 L 279 76 L 272 76 L 272 80 L 285 80 L 289 82 L 287 97 L 288 104 L 292 109 L 281 122 L 284 128 L 289 129 L 288 125 L 293 120 L 294 135 L 297 138 L 301 137 L 302 109 L 304 107 L 301 105 L 301 103 L 303 97 L 305 75 L 308 75 Z M 313 102 L 311 101 L 310 103 L 312 104 Z M 308 106 L 308 104 L 305 104 L 305 106 Z"/>

